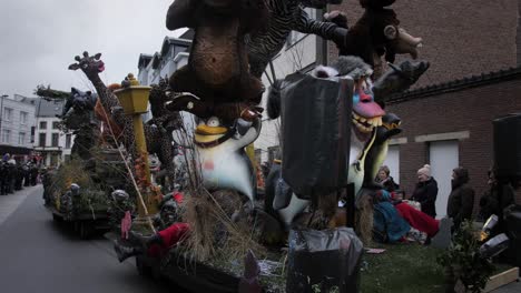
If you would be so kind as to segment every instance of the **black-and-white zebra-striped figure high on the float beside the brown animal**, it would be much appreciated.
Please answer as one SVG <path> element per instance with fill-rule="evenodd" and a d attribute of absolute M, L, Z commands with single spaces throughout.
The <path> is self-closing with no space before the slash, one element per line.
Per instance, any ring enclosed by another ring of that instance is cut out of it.
<path fill-rule="evenodd" d="M 313 33 L 335 43 L 343 43 L 347 30 L 332 22 L 317 21 L 304 11 L 304 7 L 316 9 L 338 4 L 342 0 L 265 0 L 269 11 L 266 30 L 246 37 L 249 71 L 260 78 L 268 62 L 283 49 L 292 30 Z"/>

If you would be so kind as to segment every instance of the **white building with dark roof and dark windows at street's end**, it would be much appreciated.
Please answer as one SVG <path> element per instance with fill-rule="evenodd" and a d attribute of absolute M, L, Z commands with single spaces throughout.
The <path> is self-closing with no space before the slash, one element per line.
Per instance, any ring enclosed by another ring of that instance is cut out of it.
<path fill-rule="evenodd" d="M 42 158 L 45 165 L 58 165 L 70 158 L 75 135 L 59 129 L 63 100 L 39 99 L 36 110 L 35 152 Z"/>

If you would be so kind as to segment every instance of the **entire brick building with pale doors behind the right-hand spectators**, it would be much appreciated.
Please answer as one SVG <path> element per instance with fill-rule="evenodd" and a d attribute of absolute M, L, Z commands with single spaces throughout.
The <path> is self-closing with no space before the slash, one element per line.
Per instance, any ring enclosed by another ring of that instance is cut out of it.
<path fill-rule="evenodd" d="M 440 216 L 445 214 L 451 170 L 468 168 L 478 210 L 493 156 L 492 120 L 521 112 L 521 1 L 402 0 L 391 8 L 407 32 L 423 39 L 420 58 L 431 68 L 411 91 L 387 103 L 386 111 L 402 118 L 404 131 L 393 140 L 386 163 L 409 193 L 416 170 L 430 163 L 440 183 Z M 358 0 L 330 10 L 345 11 L 350 24 L 363 13 Z M 331 62 L 337 51 L 331 43 L 327 51 Z M 520 191 L 517 200 L 521 202 Z"/>

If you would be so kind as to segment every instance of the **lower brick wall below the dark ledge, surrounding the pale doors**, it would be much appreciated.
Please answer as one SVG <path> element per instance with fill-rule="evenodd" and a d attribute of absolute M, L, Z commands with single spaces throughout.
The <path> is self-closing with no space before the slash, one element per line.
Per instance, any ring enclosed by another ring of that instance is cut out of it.
<path fill-rule="evenodd" d="M 400 145 L 400 182 L 410 194 L 416 171 L 427 162 L 427 144 L 414 142 L 416 135 L 469 131 L 470 138 L 459 143 L 461 166 L 469 169 L 470 184 L 479 198 L 486 189 L 486 171 L 493 159 L 492 120 L 499 115 L 521 112 L 521 74 L 510 81 L 497 82 L 456 92 L 391 103 L 386 111 L 402 118 L 406 144 Z M 521 191 L 518 192 L 521 203 Z"/>

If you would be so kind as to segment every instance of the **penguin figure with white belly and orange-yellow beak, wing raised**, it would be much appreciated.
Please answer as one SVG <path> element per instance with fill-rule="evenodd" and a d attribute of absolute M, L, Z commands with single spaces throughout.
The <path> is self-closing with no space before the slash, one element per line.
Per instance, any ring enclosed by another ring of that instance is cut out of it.
<path fill-rule="evenodd" d="M 244 129 L 244 123 L 240 124 Z M 260 133 L 260 119 L 254 120 L 246 131 L 224 127 L 216 117 L 199 123 L 195 130 L 195 155 L 200 163 L 203 184 L 209 191 L 236 190 L 250 201 L 256 198 L 256 176 L 244 148 Z"/>

